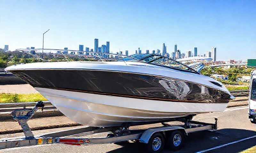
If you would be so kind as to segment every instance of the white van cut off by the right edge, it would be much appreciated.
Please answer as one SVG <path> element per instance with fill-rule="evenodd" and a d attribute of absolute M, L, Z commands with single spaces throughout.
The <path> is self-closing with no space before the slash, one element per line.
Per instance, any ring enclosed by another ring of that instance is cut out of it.
<path fill-rule="evenodd" d="M 249 119 L 252 123 L 256 123 L 256 70 L 251 72 L 250 88 L 249 88 Z"/>

